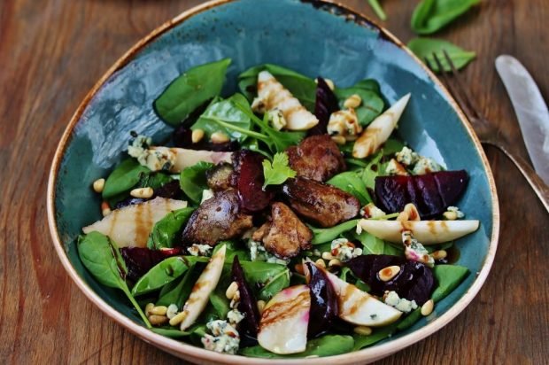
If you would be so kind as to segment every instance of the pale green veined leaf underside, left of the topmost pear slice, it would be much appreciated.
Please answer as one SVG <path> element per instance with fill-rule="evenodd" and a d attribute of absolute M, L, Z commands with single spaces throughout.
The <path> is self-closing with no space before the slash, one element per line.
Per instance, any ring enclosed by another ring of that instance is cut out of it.
<path fill-rule="evenodd" d="M 243 143 L 249 136 L 251 126 L 250 117 L 235 106 L 236 103 L 243 102 L 247 103 L 241 94 L 235 94 L 225 100 L 214 100 L 191 129 L 204 130 L 208 138 L 215 132 L 222 132 L 232 140 Z"/>

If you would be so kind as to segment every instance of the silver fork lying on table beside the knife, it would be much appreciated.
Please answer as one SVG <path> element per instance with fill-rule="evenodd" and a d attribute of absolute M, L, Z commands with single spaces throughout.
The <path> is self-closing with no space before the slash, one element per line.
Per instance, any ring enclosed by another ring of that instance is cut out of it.
<path fill-rule="evenodd" d="M 545 210 L 549 212 L 549 187 L 545 184 L 543 180 L 536 174 L 536 171 L 531 167 L 530 163 L 523 159 L 520 154 L 517 153 L 516 147 L 514 144 L 510 143 L 506 136 L 499 133 L 498 128 L 494 127 L 489 120 L 483 117 L 481 113 L 478 112 L 478 107 L 476 107 L 473 100 L 468 97 L 466 88 L 461 82 L 458 70 L 453 65 L 452 58 L 448 53 L 443 50 L 445 55 L 445 60 L 450 66 L 451 72 L 445 71 L 445 68 L 442 66 L 442 62 L 437 57 L 437 54 L 433 53 L 433 58 L 437 64 L 438 70 L 442 79 L 444 80 L 448 89 L 452 93 L 452 96 L 455 97 L 458 104 L 461 107 L 461 110 L 468 116 L 473 129 L 475 129 L 476 136 L 480 139 L 482 144 L 491 144 L 494 147 L 497 147 L 500 151 L 505 153 L 505 155 L 513 161 L 514 166 L 516 166 L 526 180 L 530 183 L 532 189 L 536 192 L 537 198 L 541 200 L 542 204 L 545 206 Z M 429 59 L 425 58 L 425 63 L 431 70 L 435 70 L 434 67 L 429 62 Z M 455 82 L 450 81 L 450 76 L 453 76 Z"/>

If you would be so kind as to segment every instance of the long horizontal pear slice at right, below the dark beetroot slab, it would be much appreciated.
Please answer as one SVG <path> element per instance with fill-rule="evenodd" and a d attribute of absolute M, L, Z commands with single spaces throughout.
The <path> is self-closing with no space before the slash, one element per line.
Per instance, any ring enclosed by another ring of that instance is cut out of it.
<path fill-rule="evenodd" d="M 479 221 L 375 221 L 360 220 L 360 227 L 375 237 L 402 243 L 402 231 L 410 230 L 423 245 L 437 245 L 458 239 L 478 229 Z"/>

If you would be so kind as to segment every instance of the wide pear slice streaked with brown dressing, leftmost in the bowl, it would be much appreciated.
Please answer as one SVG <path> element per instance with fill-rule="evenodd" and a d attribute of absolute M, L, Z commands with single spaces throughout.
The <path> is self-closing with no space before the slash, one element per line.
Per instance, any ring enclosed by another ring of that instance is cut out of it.
<path fill-rule="evenodd" d="M 185 207 L 186 201 L 158 197 L 113 210 L 101 221 L 96 221 L 82 230 L 86 234 L 97 230 L 111 238 L 119 247 L 146 247 L 147 238 L 155 223 L 166 214 Z"/>

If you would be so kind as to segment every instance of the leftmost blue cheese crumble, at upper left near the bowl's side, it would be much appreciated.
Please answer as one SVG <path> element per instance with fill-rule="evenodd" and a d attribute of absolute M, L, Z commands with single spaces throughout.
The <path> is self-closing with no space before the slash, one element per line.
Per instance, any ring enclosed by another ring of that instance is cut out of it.
<path fill-rule="evenodd" d="M 149 167 L 151 171 L 169 171 L 174 166 L 174 153 L 167 149 L 162 151 L 151 149 L 149 148 L 151 144 L 151 137 L 136 136 L 128 146 L 128 154 L 137 159 L 142 166 Z"/>

